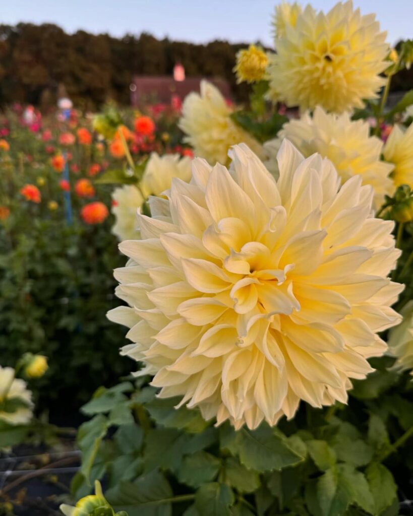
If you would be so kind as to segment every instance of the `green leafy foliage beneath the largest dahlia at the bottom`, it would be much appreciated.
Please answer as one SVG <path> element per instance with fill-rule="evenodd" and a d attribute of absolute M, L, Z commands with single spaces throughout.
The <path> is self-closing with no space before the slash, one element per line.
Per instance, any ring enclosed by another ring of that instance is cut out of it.
<path fill-rule="evenodd" d="M 142 380 L 99 389 L 82 409 L 93 417 L 79 432 L 74 497 L 106 479 L 108 502 L 129 516 L 396 515 L 396 486 L 408 489 L 413 471 L 413 390 L 406 376 L 388 381 L 391 363 L 375 359 L 380 396 L 354 389 L 348 407 L 303 407 L 256 430 L 200 424 Z M 115 404 L 130 417 L 111 418 Z"/>

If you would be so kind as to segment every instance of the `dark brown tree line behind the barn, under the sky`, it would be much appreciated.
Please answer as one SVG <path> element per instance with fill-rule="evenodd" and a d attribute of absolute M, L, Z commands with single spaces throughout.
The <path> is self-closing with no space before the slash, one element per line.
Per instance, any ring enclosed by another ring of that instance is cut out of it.
<path fill-rule="evenodd" d="M 187 76 L 226 78 L 235 98 L 245 100 L 248 89 L 236 85 L 232 73 L 235 54 L 245 46 L 158 40 L 146 33 L 121 39 L 83 30 L 67 34 L 52 24 L 0 25 L 0 104 L 52 106 L 63 88 L 85 108 L 108 99 L 128 104 L 134 74 L 171 75 L 178 61 Z"/>

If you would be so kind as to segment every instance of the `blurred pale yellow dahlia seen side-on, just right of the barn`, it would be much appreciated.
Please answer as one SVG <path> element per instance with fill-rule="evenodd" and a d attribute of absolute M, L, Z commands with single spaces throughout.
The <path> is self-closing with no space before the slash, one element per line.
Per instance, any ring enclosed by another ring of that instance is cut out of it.
<path fill-rule="evenodd" d="M 235 143 L 243 142 L 256 153 L 262 152 L 258 141 L 231 120 L 232 112 L 220 91 L 206 80 L 201 82 L 200 94 L 189 93 L 184 100 L 179 121 L 187 135 L 184 141 L 211 165 L 227 163 L 228 150 Z"/>

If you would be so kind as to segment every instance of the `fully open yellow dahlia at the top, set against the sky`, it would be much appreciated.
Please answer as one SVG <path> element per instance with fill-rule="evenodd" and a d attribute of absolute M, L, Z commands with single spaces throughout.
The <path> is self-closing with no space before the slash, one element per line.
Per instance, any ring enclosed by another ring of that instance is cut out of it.
<path fill-rule="evenodd" d="M 343 112 L 362 107 L 385 83 L 389 46 L 375 15 L 362 16 L 352 2 L 338 3 L 327 14 L 308 5 L 294 17 L 276 14 L 283 29 L 270 58 L 270 90 L 288 106 Z M 282 22 L 282 23 L 281 23 Z M 274 96 L 274 95 L 273 95 Z"/>

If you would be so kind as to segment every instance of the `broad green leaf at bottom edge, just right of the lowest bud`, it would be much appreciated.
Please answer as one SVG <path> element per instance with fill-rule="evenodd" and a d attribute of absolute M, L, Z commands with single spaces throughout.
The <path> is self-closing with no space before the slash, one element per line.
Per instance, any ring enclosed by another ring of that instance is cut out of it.
<path fill-rule="evenodd" d="M 171 516 L 172 496 L 168 481 L 158 471 L 134 482 L 120 482 L 105 493 L 116 511 L 124 510 L 129 516 Z"/>

